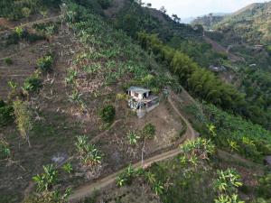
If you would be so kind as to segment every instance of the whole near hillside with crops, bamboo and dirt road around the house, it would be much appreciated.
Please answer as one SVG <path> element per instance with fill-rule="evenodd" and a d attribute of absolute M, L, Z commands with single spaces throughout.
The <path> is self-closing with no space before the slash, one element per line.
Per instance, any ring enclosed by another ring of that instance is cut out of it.
<path fill-rule="evenodd" d="M 221 79 L 244 61 L 201 26 L 132 0 L 1 4 L 0 203 L 270 200 L 268 78 Z"/>

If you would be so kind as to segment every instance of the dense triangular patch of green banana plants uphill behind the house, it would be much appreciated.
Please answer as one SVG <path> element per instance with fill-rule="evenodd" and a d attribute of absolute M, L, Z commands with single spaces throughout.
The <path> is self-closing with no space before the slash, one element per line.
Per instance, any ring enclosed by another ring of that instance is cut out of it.
<path fill-rule="evenodd" d="M 178 86 L 175 78 L 169 74 L 160 74 L 165 70 L 159 69 L 153 56 L 143 51 L 125 32 L 113 29 L 86 7 L 68 4 L 64 15 L 79 42 L 87 48 L 74 60 L 77 69 L 69 70 L 67 83 L 76 82 L 76 76 L 72 73 L 77 71 L 77 74 L 88 75 L 88 78 L 102 74 L 106 86 L 132 82 L 143 86 L 150 84 L 149 88 L 159 89 L 164 88 L 164 85 Z M 89 46 L 94 51 L 89 51 Z M 91 60 L 91 63 L 86 63 L 87 60 Z M 156 74 L 151 74 L 152 70 Z"/>

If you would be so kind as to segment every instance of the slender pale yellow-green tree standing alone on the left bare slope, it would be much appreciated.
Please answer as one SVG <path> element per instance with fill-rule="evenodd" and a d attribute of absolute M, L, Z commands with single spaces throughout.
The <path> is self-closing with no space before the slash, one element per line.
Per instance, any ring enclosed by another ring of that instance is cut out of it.
<path fill-rule="evenodd" d="M 21 100 L 14 101 L 14 115 L 18 131 L 31 147 L 29 133 L 33 129 L 33 115 L 26 103 Z"/>

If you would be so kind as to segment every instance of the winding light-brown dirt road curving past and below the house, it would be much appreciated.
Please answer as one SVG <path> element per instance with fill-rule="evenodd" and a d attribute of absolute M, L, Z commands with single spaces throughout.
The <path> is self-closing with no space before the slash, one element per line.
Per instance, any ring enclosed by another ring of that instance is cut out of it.
<path fill-rule="evenodd" d="M 186 140 L 195 139 L 196 134 L 192 128 L 192 125 L 183 117 L 183 115 L 178 110 L 178 108 L 173 104 L 173 100 L 170 97 L 168 98 L 168 101 L 169 101 L 170 105 L 173 107 L 173 110 L 175 111 L 175 113 L 177 115 L 179 115 L 180 117 L 182 117 L 182 120 L 187 125 L 187 130 L 186 130 L 185 134 L 182 136 L 181 143 L 184 143 Z M 164 161 L 168 158 L 172 158 L 173 156 L 178 155 L 179 153 L 180 153 L 179 148 L 168 151 L 168 152 L 163 152 L 161 154 L 155 155 L 154 157 L 146 159 L 143 162 L 142 161 L 136 162 L 135 164 L 133 164 L 133 167 L 135 169 L 147 168 L 150 165 L 152 165 L 154 162 Z M 103 188 L 107 187 L 107 185 L 114 183 L 114 181 L 117 178 L 117 175 L 119 173 L 121 173 L 122 171 L 124 171 L 124 170 L 117 171 L 117 172 L 115 172 L 115 173 L 113 173 L 103 179 L 97 180 L 95 182 L 90 182 L 89 184 L 82 186 L 79 189 L 76 189 L 74 191 L 74 193 L 70 196 L 69 201 L 70 202 L 78 202 L 81 198 L 85 198 L 85 197 L 88 197 L 89 195 L 91 195 L 91 193 L 94 192 L 95 190 L 103 189 Z"/>

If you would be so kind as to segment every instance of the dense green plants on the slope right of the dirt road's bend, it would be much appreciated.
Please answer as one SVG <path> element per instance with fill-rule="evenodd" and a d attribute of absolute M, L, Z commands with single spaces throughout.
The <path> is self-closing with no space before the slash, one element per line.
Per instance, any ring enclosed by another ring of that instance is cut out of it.
<path fill-rule="evenodd" d="M 269 154 L 271 133 L 260 125 L 211 105 L 203 106 L 203 111 L 206 115 L 204 120 L 216 127 L 218 136 L 212 136 L 212 139 L 218 146 L 257 162 L 263 160 L 263 155 Z"/>

